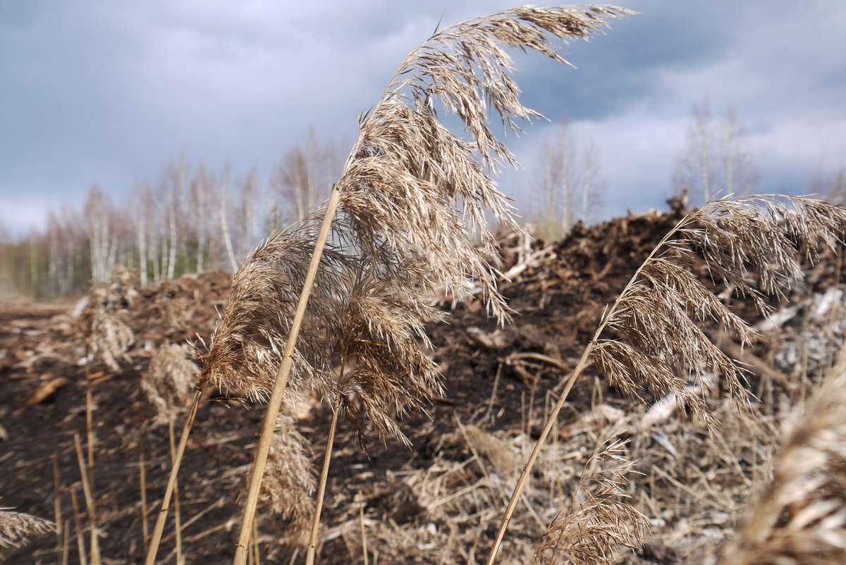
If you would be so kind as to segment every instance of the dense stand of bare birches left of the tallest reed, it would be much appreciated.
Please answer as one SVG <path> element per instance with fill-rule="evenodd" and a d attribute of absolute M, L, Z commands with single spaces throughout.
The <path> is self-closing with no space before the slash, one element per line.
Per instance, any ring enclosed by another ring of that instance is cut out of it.
<path fill-rule="evenodd" d="M 255 167 L 234 178 L 228 167 L 214 172 L 181 156 L 120 203 L 92 185 L 81 209 L 49 211 L 43 229 L 16 239 L 0 232 L 0 298 L 79 295 L 116 266 L 136 269 L 142 286 L 234 271 L 259 239 L 324 200 L 341 164 L 336 144 L 311 134 L 266 179 Z"/>

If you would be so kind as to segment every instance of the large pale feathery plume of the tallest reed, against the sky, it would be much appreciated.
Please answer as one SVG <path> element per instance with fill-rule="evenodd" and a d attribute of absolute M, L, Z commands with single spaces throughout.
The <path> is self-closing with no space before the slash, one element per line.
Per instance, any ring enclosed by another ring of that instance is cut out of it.
<path fill-rule="evenodd" d="M 540 114 L 519 101 L 501 46 L 565 63 L 550 36 L 587 37 L 606 25 L 603 18 L 623 14 L 629 12 L 615 7 L 514 8 L 436 31 L 409 52 L 382 99 L 360 118 L 359 140 L 338 180 L 339 209 L 360 242 L 419 255 L 426 263 L 416 279 L 421 291 L 443 289 L 460 300 L 478 284 L 488 310 L 503 320 L 508 307 L 497 292 L 497 243 L 486 215 L 516 228 L 491 175 L 517 162 L 494 134 L 490 114 L 514 133 Z M 464 134 L 440 121 L 438 104 L 460 119 Z"/>

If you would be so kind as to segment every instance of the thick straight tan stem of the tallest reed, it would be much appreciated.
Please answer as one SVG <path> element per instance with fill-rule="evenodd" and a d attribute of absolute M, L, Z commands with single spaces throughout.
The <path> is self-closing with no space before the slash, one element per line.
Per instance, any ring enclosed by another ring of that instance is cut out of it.
<path fill-rule="evenodd" d="M 323 223 L 320 233 L 317 236 L 314 253 L 311 255 L 309 270 L 305 274 L 305 284 L 302 292 L 299 294 L 297 310 L 294 314 L 291 332 L 288 335 L 288 343 L 285 343 L 282 364 L 279 365 L 276 381 L 273 383 L 270 402 L 267 404 L 267 411 L 261 423 L 261 436 L 259 437 L 258 446 L 255 447 L 255 458 L 253 459 L 252 469 L 250 469 L 250 486 L 247 491 L 247 501 L 244 504 L 244 518 L 241 520 L 241 530 L 238 536 L 238 545 L 235 546 L 233 565 L 244 565 L 247 562 L 247 549 L 250 545 L 255 507 L 258 504 L 259 491 L 261 491 L 261 478 L 264 476 L 267 466 L 267 453 L 270 452 L 273 428 L 276 425 L 285 388 L 288 387 L 288 376 L 291 373 L 291 366 L 294 364 L 294 348 L 299 337 L 299 327 L 303 323 L 305 306 L 308 304 L 311 295 L 311 288 L 314 285 L 317 268 L 320 266 L 321 255 L 323 255 L 323 248 L 329 237 L 329 229 L 332 228 L 332 219 L 335 217 L 335 211 L 338 208 L 338 200 L 340 200 L 340 192 L 337 187 L 334 187 L 332 188 L 332 195 L 327 202 L 326 216 L 323 217 Z M 148 562 L 146 565 L 153 564 L 152 562 Z"/>

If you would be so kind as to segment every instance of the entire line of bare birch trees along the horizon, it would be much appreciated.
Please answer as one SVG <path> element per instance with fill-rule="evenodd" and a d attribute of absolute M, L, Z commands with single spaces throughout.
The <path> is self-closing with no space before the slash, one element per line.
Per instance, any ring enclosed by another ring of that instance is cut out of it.
<path fill-rule="evenodd" d="M 108 280 L 118 265 L 137 269 L 142 285 L 234 271 L 259 239 L 313 211 L 342 166 L 338 144 L 312 133 L 266 178 L 255 167 L 235 178 L 228 168 L 215 172 L 181 156 L 163 167 L 157 183 L 138 184 L 119 204 L 93 185 L 81 210 L 50 211 L 42 230 L 14 239 L 0 228 L 0 299 L 78 295 L 90 282 Z M 568 121 L 554 126 L 532 173 L 533 207 L 525 215 L 542 237 L 563 237 L 602 212 L 607 180 L 600 151 L 591 140 L 577 140 Z M 721 191 L 756 192 L 758 183 L 750 136 L 737 113 L 729 107 L 715 116 L 707 100 L 696 104 L 671 174 L 673 194 L 699 205 Z M 820 169 L 808 189 L 846 200 L 846 175 Z"/>

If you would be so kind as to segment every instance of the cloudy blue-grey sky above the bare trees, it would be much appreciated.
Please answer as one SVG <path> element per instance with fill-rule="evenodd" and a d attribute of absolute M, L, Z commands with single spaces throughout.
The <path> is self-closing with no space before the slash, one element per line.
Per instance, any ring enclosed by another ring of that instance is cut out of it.
<path fill-rule="evenodd" d="M 516 58 L 523 100 L 550 120 L 512 140 L 524 168 L 501 184 L 519 208 L 536 206 L 532 171 L 564 119 L 596 146 L 606 216 L 662 207 L 705 98 L 744 123 L 766 192 L 846 167 L 846 2 L 619 2 L 639 14 L 561 45 L 575 69 Z M 0 226 L 39 227 L 93 183 L 120 202 L 183 152 L 266 178 L 310 129 L 349 144 L 438 21 L 511 5 L 0 0 Z"/>

